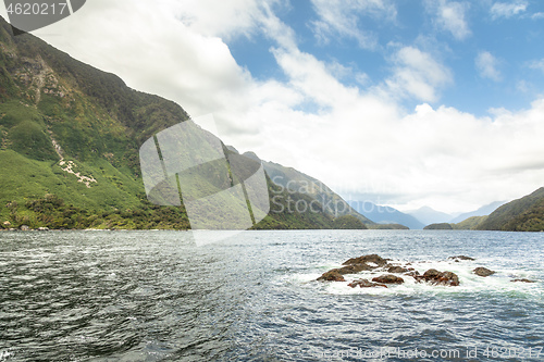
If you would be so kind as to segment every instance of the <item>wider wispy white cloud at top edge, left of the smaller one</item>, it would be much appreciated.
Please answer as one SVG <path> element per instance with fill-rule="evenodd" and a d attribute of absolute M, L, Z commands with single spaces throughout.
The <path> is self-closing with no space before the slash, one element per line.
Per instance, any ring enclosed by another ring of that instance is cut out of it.
<path fill-rule="evenodd" d="M 390 0 L 312 0 L 312 4 L 319 16 L 312 27 L 320 41 L 326 43 L 339 35 L 356 39 L 366 49 L 375 48 L 378 39 L 372 32 L 360 28 L 360 17 L 394 21 L 397 14 Z"/>

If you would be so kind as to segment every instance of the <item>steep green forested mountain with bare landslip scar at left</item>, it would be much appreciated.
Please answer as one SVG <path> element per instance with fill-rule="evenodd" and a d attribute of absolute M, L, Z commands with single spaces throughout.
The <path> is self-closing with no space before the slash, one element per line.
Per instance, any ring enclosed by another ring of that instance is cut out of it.
<path fill-rule="evenodd" d="M 178 104 L 131 89 L 33 35 L 14 36 L 0 17 L 0 228 L 189 228 L 183 204 L 148 201 L 138 157 L 146 140 L 188 118 Z M 314 211 L 289 212 L 288 198 L 314 199 L 269 177 L 267 186 L 283 198 L 255 228 L 364 228 L 319 202 Z"/>

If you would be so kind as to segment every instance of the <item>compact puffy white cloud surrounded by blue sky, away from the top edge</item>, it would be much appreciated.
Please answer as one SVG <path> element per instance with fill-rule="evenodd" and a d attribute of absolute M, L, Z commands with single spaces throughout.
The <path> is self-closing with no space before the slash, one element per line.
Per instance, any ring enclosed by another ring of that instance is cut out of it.
<path fill-rule="evenodd" d="M 401 48 L 393 61 L 394 74 L 385 80 L 393 95 L 434 102 L 438 99 L 437 89 L 453 82 L 446 66 L 417 48 Z"/>

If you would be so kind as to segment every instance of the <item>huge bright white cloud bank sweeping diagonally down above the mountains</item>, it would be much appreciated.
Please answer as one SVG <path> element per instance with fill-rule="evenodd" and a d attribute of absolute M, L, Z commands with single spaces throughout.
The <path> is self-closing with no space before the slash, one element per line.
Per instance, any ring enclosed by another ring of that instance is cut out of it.
<path fill-rule="evenodd" d="M 233 8 L 95 0 L 42 37 L 136 89 L 177 101 L 194 116 L 213 113 L 226 143 L 294 166 L 344 196 L 469 211 L 542 186 L 544 99 L 490 117 L 425 103 L 406 112 L 395 95 L 432 102 L 453 82 L 430 53 L 397 48 L 380 89 L 364 91 L 338 80 L 348 71 L 342 64 L 302 52 L 272 5 L 228 3 Z M 250 15 L 242 14 L 245 9 Z M 256 80 L 223 41 L 256 32 L 275 41 L 272 55 L 287 80 Z M 318 112 L 305 112 L 306 103 Z"/>

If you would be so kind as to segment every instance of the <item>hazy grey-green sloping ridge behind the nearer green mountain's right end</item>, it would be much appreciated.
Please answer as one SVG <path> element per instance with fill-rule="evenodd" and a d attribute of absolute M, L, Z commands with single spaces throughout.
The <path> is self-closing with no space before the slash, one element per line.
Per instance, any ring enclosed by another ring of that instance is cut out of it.
<path fill-rule="evenodd" d="M 248 157 L 257 158 L 255 153 Z M 287 192 L 300 192 L 310 196 L 317 201 L 313 207 L 316 208 L 318 203 L 321 204 L 321 211 L 325 214 L 334 217 L 353 215 L 364 224 L 374 224 L 361 213 L 354 210 L 342 197 L 319 179 L 279 163 L 262 161 L 262 164 L 274 184 L 281 186 Z M 274 198 L 272 198 L 272 202 L 274 202 Z M 312 207 L 312 204 L 307 207 Z"/>

